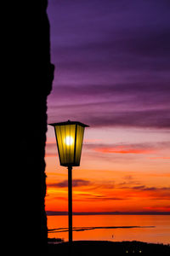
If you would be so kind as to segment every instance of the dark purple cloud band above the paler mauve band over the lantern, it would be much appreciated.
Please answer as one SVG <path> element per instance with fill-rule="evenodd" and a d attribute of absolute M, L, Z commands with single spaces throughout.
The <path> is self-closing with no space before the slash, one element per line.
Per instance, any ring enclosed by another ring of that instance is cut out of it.
<path fill-rule="evenodd" d="M 135 99 L 135 97 L 140 96 L 138 98 L 139 102 L 141 102 L 141 98 L 144 100 L 145 97 L 145 102 L 148 102 L 150 106 L 150 103 L 153 102 L 163 103 L 163 101 L 166 101 L 166 103 L 168 103 L 167 93 L 170 93 L 170 88 L 166 81 L 161 81 L 161 78 L 150 80 L 150 76 L 146 74 L 145 79 L 141 78 L 132 80 L 127 78 L 126 81 L 122 82 L 105 81 L 102 83 L 101 81 L 94 81 L 92 83 L 91 81 L 84 81 L 80 85 L 75 83 L 75 81 L 69 81 L 69 83 L 60 81 L 58 84 L 56 84 L 56 87 L 54 87 L 53 92 L 58 93 L 59 96 L 74 96 L 74 98 L 80 96 L 84 96 L 85 98 L 90 96 L 101 98 L 103 96 L 105 99 L 104 96 L 110 96 L 109 99 L 112 98 L 113 101 L 115 100 L 117 102 L 118 100 L 122 101 L 123 99 L 123 101 L 129 103 L 132 97 Z M 119 96 L 119 98 L 117 98 L 117 96 Z M 131 96 L 131 98 L 129 98 L 129 96 Z M 156 99 L 151 96 L 157 96 L 158 98 Z M 149 100 L 151 102 L 149 102 Z"/>

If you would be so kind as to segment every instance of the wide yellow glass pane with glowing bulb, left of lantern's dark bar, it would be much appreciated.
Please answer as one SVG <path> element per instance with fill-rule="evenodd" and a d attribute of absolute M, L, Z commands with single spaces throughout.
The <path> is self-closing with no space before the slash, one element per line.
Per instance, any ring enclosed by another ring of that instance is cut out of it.
<path fill-rule="evenodd" d="M 76 125 L 56 125 L 55 132 L 60 165 L 74 165 Z"/>

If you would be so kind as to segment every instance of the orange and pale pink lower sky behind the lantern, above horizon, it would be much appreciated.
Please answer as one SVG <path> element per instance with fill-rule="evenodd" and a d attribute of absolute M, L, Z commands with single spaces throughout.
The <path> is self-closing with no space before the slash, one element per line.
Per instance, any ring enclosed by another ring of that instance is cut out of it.
<path fill-rule="evenodd" d="M 46 146 L 46 210 L 68 209 L 67 169 L 59 166 L 54 128 Z M 167 131 L 85 130 L 82 160 L 73 168 L 73 212 L 170 211 Z"/>

